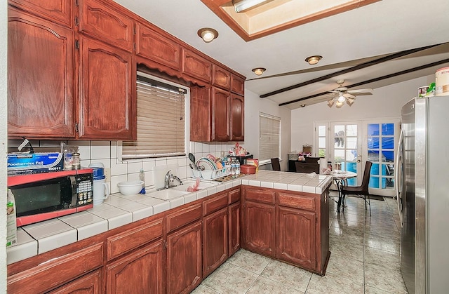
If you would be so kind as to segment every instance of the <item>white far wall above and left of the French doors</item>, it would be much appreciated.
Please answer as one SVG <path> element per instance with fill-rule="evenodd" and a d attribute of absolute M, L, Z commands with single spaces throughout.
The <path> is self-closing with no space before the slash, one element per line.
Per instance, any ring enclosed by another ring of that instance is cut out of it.
<path fill-rule="evenodd" d="M 326 102 L 292 110 L 291 150 L 302 150 L 302 145 L 314 145 L 314 121 L 354 121 L 379 117 L 400 118 L 401 108 L 417 95 L 417 88 L 435 81 L 435 76 L 424 76 L 391 86 L 376 88 L 373 95 L 358 96 L 354 104 L 338 109 Z M 315 147 L 314 147 L 315 148 Z"/>

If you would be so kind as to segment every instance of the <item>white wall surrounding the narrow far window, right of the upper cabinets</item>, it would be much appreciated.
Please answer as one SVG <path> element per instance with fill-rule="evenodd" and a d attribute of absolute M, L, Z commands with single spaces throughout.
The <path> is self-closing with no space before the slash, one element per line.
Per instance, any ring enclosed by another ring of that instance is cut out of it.
<path fill-rule="evenodd" d="M 245 90 L 245 142 L 244 147 L 254 158 L 259 157 L 259 112 L 271 114 L 281 117 L 281 170 L 287 170 L 288 155 L 290 151 L 291 138 L 291 119 L 290 109 L 286 107 L 279 107 L 271 100 L 259 98 L 258 95 Z M 262 166 L 262 169 L 272 169 L 271 165 Z"/>

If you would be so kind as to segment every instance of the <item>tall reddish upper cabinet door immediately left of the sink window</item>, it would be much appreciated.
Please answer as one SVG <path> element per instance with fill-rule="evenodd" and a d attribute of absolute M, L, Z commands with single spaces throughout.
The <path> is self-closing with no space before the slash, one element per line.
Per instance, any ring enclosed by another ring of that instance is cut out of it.
<path fill-rule="evenodd" d="M 79 138 L 133 140 L 136 104 L 130 53 L 83 36 L 80 51 Z"/>

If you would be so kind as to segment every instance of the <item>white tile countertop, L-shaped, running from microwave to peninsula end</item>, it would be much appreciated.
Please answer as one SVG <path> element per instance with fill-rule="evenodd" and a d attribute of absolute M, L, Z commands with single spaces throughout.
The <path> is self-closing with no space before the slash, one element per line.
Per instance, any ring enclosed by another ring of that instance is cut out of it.
<path fill-rule="evenodd" d="M 7 262 L 9 265 L 239 185 L 321 194 L 331 182 L 330 175 L 259 171 L 167 201 L 152 197 L 154 189 L 145 195 L 116 193 L 88 211 L 18 228 L 17 244 L 6 249 Z"/>

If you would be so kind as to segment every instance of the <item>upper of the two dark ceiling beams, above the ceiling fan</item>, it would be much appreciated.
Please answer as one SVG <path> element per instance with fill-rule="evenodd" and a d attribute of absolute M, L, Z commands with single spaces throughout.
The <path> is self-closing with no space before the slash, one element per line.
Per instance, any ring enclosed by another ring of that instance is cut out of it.
<path fill-rule="evenodd" d="M 439 45 L 441 45 L 441 44 L 425 46 L 425 47 L 420 47 L 420 48 L 414 48 L 414 49 L 409 49 L 409 50 L 401 51 L 401 52 L 398 52 L 398 53 L 390 54 L 390 55 L 384 56 L 382 58 L 377 58 L 375 60 L 370 60 L 368 62 L 363 62 L 360 65 L 356 65 L 354 67 L 349 67 L 347 69 L 342 69 L 342 70 L 340 70 L 338 72 L 333 72 L 332 74 L 326 74 L 325 76 L 320 76 L 320 77 L 318 77 L 316 79 L 311 79 L 309 81 L 304 81 L 302 83 L 297 83 L 296 85 L 288 86 L 286 88 L 281 88 L 279 90 L 276 90 L 276 91 L 273 91 L 273 92 L 270 92 L 270 93 L 267 93 L 267 94 L 262 94 L 259 97 L 260 98 L 267 98 L 267 97 L 272 96 L 272 95 L 277 95 L 277 94 L 280 94 L 280 93 L 291 91 L 291 90 L 294 90 L 296 88 L 307 86 L 307 85 L 309 85 L 311 83 L 317 83 L 319 81 L 324 81 L 326 79 L 330 79 L 330 78 L 333 78 L 335 76 L 339 76 L 341 74 L 347 74 L 348 72 L 354 72 L 354 71 L 356 71 L 358 69 L 363 69 L 363 68 L 366 68 L 366 67 L 372 67 L 373 65 L 378 65 L 378 64 L 380 64 L 382 62 L 393 60 L 395 58 L 400 58 L 400 57 L 403 57 L 403 56 L 406 56 L 406 55 L 409 55 L 409 54 L 412 54 L 412 53 L 416 53 L 416 52 L 419 52 L 419 51 L 423 51 L 423 50 L 426 50 L 426 49 L 429 49 L 429 48 L 433 48 L 433 47 L 439 46 Z M 286 102 L 286 103 L 288 103 L 288 102 Z"/>

